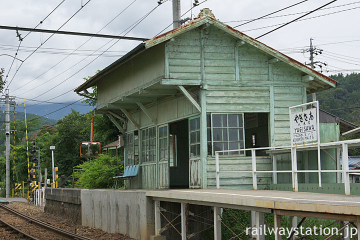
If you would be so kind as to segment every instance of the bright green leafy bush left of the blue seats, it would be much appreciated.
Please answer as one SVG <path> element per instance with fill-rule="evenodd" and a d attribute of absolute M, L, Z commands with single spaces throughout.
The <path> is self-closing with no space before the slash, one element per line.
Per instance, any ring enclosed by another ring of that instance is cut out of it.
<path fill-rule="evenodd" d="M 114 184 L 112 177 L 119 170 L 116 157 L 107 154 L 100 154 L 97 158 L 84 161 L 76 168 L 83 170 L 76 172 L 76 185 L 81 188 L 111 188 Z"/>

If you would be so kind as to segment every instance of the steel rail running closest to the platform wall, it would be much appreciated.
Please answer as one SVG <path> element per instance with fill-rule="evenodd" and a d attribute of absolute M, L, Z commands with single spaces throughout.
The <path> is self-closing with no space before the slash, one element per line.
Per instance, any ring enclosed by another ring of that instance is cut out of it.
<path fill-rule="evenodd" d="M 2 203 L 0 203 L 0 208 L 2 208 L 2 209 L 6 210 L 6 211 L 8 211 L 8 212 L 10 212 L 10 213 L 12 213 L 14 215 L 22 217 L 23 219 L 29 221 L 33 225 L 44 228 L 44 229 L 46 229 L 48 231 L 53 232 L 56 235 L 64 237 L 66 239 L 69 239 L 69 240 L 92 240 L 91 238 L 81 236 L 81 235 L 78 235 L 78 234 L 70 232 L 70 231 L 66 231 L 64 229 L 61 229 L 61 228 L 58 228 L 56 226 L 50 225 L 50 224 L 48 224 L 46 222 L 43 222 L 43 221 L 37 220 L 35 218 L 32 218 L 32 217 L 30 217 L 28 215 L 25 215 L 25 214 L 23 214 L 21 212 L 18 212 L 16 210 L 12 209 L 10 207 L 5 206 Z"/>

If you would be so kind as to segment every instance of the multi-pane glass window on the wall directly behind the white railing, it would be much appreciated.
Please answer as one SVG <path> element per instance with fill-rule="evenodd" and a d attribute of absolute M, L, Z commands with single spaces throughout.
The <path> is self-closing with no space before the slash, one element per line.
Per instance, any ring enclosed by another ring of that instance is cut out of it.
<path fill-rule="evenodd" d="M 215 151 L 244 148 L 244 130 L 242 114 L 211 114 L 211 120 L 207 120 L 208 145 L 212 144 L 212 155 Z M 211 134 L 209 134 L 211 129 Z M 211 137 L 212 136 L 212 137 Z M 209 153 L 209 152 L 208 152 Z M 219 153 L 219 155 L 240 155 L 242 151 L 230 151 Z"/>

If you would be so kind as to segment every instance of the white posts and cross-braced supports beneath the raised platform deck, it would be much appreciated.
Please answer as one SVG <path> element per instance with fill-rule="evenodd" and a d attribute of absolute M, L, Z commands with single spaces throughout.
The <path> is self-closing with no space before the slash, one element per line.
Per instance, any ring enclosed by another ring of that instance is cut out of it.
<path fill-rule="evenodd" d="M 173 198 L 161 198 L 161 197 L 152 197 L 154 200 L 154 206 L 155 206 L 155 235 L 161 236 L 161 232 L 165 230 L 168 227 L 173 227 L 180 235 L 181 240 L 190 239 L 195 234 L 199 233 L 192 233 L 189 234 L 187 232 L 187 221 L 189 216 L 188 211 L 188 204 L 194 204 L 194 205 L 208 205 L 212 207 L 213 211 L 213 232 L 214 232 L 214 240 L 221 240 L 221 224 L 224 224 L 221 220 L 221 214 L 222 214 L 222 208 L 234 208 L 234 209 L 242 209 L 242 210 L 248 210 L 250 211 L 250 227 L 255 227 L 256 232 L 259 234 L 251 235 L 252 237 L 256 238 L 256 240 L 264 240 L 265 234 L 262 232 L 261 228 L 264 226 L 264 212 L 272 212 L 274 215 L 274 228 L 281 227 L 281 215 L 283 216 L 289 216 L 290 217 L 290 227 L 299 227 L 303 220 L 306 217 L 312 217 L 312 218 L 323 218 L 323 219 L 332 219 L 332 220 L 341 220 L 344 222 L 343 227 L 340 228 L 340 230 L 348 231 L 349 226 L 352 225 L 353 227 L 357 228 L 357 240 L 360 240 L 360 215 L 341 215 L 341 214 L 332 214 L 332 213 L 323 213 L 323 212 L 308 212 L 308 211 L 293 211 L 293 210 L 279 210 L 279 209 L 270 209 L 265 207 L 249 207 L 249 206 L 243 206 L 243 205 L 231 205 L 231 204 L 220 204 L 215 202 L 201 202 L 201 201 L 189 201 L 189 200 L 181 200 L 181 199 L 173 199 Z M 160 201 L 168 201 L 168 202 L 179 202 L 180 203 L 180 214 L 177 214 L 172 220 L 168 220 L 161 211 L 166 211 L 166 209 L 163 209 L 160 207 Z M 194 215 L 193 213 L 190 213 L 190 215 Z M 161 216 L 165 218 L 165 220 L 168 222 L 164 227 L 161 228 Z M 179 232 L 175 226 L 172 224 L 172 222 L 177 218 L 181 217 L 181 232 Z M 297 217 L 302 217 L 300 223 L 297 224 Z M 356 225 L 354 224 L 356 223 Z M 238 237 L 239 234 L 234 233 L 228 226 L 224 224 L 225 227 L 227 227 L 233 234 L 234 237 Z M 212 226 L 211 226 L 212 227 Z M 209 228 L 209 227 L 208 227 Z M 206 228 L 206 229 L 208 229 Z M 204 230 L 206 230 L 204 229 Z M 241 234 L 241 233 L 240 233 Z M 251 233 L 250 233 L 251 234 Z M 331 237 L 331 236 L 329 236 Z M 234 239 L 235 239 L 234 238 Z M 160 239 L 160 238 L 159 238 Z M 240 239 L 240 238 L 239 238 Z M 279 234 L 276 234 L 274 236 L 275 240 L 280 240 L 281 236 Z M 297 239 L 297 236 L 295 236 L 292 232 L 291 236 L 288 238 L 291 239 Z M 330 238 L 325 238 L 330 239 Z M 346 239 L 346 238 L 344 238 Z"/>

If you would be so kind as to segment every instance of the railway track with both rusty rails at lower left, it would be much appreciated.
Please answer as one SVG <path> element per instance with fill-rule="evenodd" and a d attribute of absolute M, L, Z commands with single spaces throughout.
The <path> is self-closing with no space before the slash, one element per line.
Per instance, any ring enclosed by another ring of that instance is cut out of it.
<path fill-rule="evenodd" d="M 53 226 L 53 225 L 50 225 L 46 222 L 43 222 L 43 221 L 40 221 L 40 220 L 37 220 L 35 218 L 32 218 L 28 215 L 25 215 L 21 212 L 18 212 L 10 207 L 7 207 L 3 204 L 0 203 L 0 209 L 2 210 L 5 210 L 7 212 L 10 212 L 11 214 L 14 214 L 15 216 L 18 216 L 24 220 L 26 220 L 27 222 L 33 224 L 33 225 L 36 225 L 38 227 L 41 227 L 47 231 L 50 231 L 58 236 L 61 236 L 65 239 L 69 239 L 69 240 L 92 240 L 91 238 L 88 238 L 88 237 L 85 237 L 85 236 L 81 236 L 81 235 L 78 235 L 76 233 L 73 233 L 73 232 L 70 232 L 70 231 L 66 231 L 66 230 L 63 230 L 61 228 L 58 228 L 56 226 Z M 0 219 L 0 224 L 2 224 L 3 226 L 6 225 L 6 227 L 9 227 L 11 229 L 13 229 L 14 232 L 17 232 L 19 235 L 22 235 L 24 239 L 33 239 L 33 240 L 38 240 L 38 238 L 36 237 L 33 237 L 33 236 L 30 236 L 24 232 L 22 232 L 21 230 L 19 230 L 18 228 L 16 228 L 15 226 L 12 226 L 11 224 L 3 221 Z"/>

